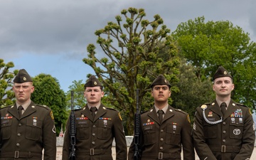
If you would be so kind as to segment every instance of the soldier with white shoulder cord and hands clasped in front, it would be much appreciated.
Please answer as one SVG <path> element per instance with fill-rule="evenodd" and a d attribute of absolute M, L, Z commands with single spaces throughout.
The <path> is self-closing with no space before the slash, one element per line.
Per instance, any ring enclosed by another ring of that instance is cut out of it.
<path fill-rule="evenodd" d="M 234 102 L 233 78 L 222 66 L 213 75 L 216 99 L 196 109 L 193 140 L 200 159 L 250 159 L 255 144 L 255 124 L 250 108 Z"/>

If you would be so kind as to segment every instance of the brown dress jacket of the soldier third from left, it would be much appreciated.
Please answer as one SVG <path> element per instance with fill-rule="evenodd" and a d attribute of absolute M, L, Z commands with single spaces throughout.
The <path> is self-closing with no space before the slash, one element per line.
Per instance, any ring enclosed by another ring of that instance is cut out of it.
<path fill-rule="evenodd" d="M 154 107 L 141 114 L 139 149 L 142 160 L 180 160 L 181 147 L 183 160 L 195 159 L 191 123 L 186 112 L 169 105 L 161 123 Z M 128 159 L 134 159 L 134 139 L 129 147 Z"/>

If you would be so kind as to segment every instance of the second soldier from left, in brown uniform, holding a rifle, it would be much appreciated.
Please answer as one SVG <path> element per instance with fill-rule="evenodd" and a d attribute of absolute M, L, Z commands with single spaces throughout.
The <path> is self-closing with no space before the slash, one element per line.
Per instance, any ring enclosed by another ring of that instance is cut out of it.
<path fill-rule="evenodd" d="M 117 110 L 102 105 L 103 87 L 94 75 L 85 83 L 87 105 L 75 110 L 75 157 L 82 160 L 112 160 L 115 140 L 116 159 L 127 159 L 127 143 L 122 118 Z M 70 156 L 70 120 L 66 125 L 63 160 Z"/>

